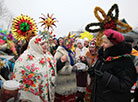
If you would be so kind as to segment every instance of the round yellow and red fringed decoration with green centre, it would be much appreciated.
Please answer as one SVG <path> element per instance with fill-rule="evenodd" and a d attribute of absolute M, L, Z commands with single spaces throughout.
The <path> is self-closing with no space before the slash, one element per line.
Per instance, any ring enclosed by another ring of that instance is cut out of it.
<path fill-rule="evenodd" d="M 17 40 L 25 40 L 29 37 L 28 34 L 31 34 L 29 32 L 34 32 L 34 35 L 36 35 L 37 25 L 33 18 L 21 14 L 21 16 L 13 19 L 11 31 Z"/>

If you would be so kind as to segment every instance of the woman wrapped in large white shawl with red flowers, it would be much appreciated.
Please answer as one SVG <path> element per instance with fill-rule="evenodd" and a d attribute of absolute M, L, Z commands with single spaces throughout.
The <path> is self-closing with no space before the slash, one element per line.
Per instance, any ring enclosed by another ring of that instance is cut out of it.
<path fill-rule="evenodd" d="M 29 42 L 29 48 L 18 58 L 14 79 L 20 82 L 20 99 L 32 102 L 53 102 L 55 60 L 47 51 L 48 37 L 39 35 Z"/>

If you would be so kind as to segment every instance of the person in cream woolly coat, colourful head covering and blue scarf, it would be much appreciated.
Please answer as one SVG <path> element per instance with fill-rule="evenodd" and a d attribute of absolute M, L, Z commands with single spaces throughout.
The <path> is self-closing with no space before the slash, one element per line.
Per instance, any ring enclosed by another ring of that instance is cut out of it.
<path fill-rule="evenodd" d="M 73 71 L 74 54 L 71 51 L 73 39 L 64 39 L 55 53 L 57 77 L 55 102 L 76 102 L 76 73 Z"/>

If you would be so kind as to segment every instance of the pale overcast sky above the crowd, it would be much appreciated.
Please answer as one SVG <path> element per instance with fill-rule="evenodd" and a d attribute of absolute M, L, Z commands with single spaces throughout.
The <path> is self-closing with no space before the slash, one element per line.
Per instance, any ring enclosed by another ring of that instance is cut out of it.
<path fill-rule="evenodd" d="M 138 27 L 138 0 L 4 0 L 13 17 L 21 13 L 40 21 L 41 13 L 54 13 L 54 34 L 63 36 L 70 31 L 85 30 L 91 22 L 98 22 L 94 8 L 100 6 L 106 13 L 114 3 L 119 6 L 119 19 L 125 18 L 133 27 Z M 41 24 L 38 24 L 39 29 Z"/>

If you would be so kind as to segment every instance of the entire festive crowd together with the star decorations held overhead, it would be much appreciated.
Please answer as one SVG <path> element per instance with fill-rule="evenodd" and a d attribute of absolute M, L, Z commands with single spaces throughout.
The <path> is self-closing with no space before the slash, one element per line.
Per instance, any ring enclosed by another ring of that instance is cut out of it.
<path fill-rule="evenodd" d="M 120 33 L 132 27 L 118 20 L 117 4 L 107 15 L 99 7 L 94 13 L 100 23 L 85 28 L 98 32 L 91 38 L 52 36 L 49 27 L 56 20 L 49 14 L 41 17 L 45 29 L 40 34 L 33 19 L 24 15 L 14 19 L 11 34 L 0 30 L 0 102 L 17 95 L 19 102 L 137 102 L 138 42 L 134 46 L 131 36 Z M 19 87 L 5 87 L 7 80 Z"/>

